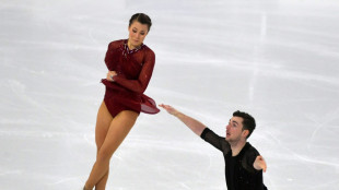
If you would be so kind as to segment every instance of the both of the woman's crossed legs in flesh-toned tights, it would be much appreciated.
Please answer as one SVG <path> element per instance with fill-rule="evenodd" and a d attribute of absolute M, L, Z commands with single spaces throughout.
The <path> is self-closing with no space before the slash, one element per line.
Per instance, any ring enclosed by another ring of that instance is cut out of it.
<path fill-rule="evenodd" d="M 138 116 L 138 112 L 122 110 L 113 118 L 105 103 L 102 103 L 95 127 L 96 161 L 85 183 L 85 190 L 92 190 L 94 187 L 95 190 L 105 189 L 109 159 L 133 127 Z"/>

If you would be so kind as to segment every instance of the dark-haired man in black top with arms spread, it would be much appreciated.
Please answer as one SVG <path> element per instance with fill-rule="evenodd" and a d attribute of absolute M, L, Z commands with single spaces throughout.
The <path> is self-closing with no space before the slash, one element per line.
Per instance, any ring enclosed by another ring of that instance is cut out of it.
<path fill-rule="evenodd" d="M 177 117 L 192 132 L 223 153 L 227 190 L 267 190 L 262 182 L 266 163 L 247 139 L 256 128 L 255 119 L 242 111 L 233 112 L 226 126 L 226 136 L 222 138 L 200 121 L 184 115 L 170 105 L 160 105 L 168 114 Z"/>

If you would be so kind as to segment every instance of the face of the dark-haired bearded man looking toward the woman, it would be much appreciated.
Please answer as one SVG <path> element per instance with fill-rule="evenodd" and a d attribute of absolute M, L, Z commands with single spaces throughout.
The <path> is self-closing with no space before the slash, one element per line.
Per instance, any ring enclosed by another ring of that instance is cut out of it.
<path fill-rule="evenodd" d="M 243 121 L 241 117 L 232 117 L 229 124 L 226 126 L 226 141 L 227 142 L 238 142 L 242 138 L 246 139 L 247 130 L 243 131 Z"/>

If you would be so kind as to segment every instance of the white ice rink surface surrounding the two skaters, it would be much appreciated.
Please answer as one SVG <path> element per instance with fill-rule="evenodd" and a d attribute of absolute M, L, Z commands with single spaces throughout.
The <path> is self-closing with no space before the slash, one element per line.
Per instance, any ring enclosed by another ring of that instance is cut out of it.
<path fill-rule="evenodd" d="M 220 135 L 250 112 L 270 190 L 338 190 L 338 0 L 0 0 L 0 189 L 80 190 L 109 41 L 149 14 L 145 92 Z M 222 154 L 161 111 L 142 114 L 107 190 L 224 190 Z"/>

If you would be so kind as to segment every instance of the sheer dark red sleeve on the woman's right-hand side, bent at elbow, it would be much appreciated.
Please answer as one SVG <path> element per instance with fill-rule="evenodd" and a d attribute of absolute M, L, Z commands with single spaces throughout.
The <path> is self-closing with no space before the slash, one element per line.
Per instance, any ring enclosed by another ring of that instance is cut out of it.
<path fill-rule="evenodd" d="M 124 75 L 115 75 L 114 82 L 137 93 L 143 93 L 149 85 L 155 63 L 155 55 L 151 49 L 147 49 L 144 54 L 144 62 L 137 80 L 128 80 Z"/>

